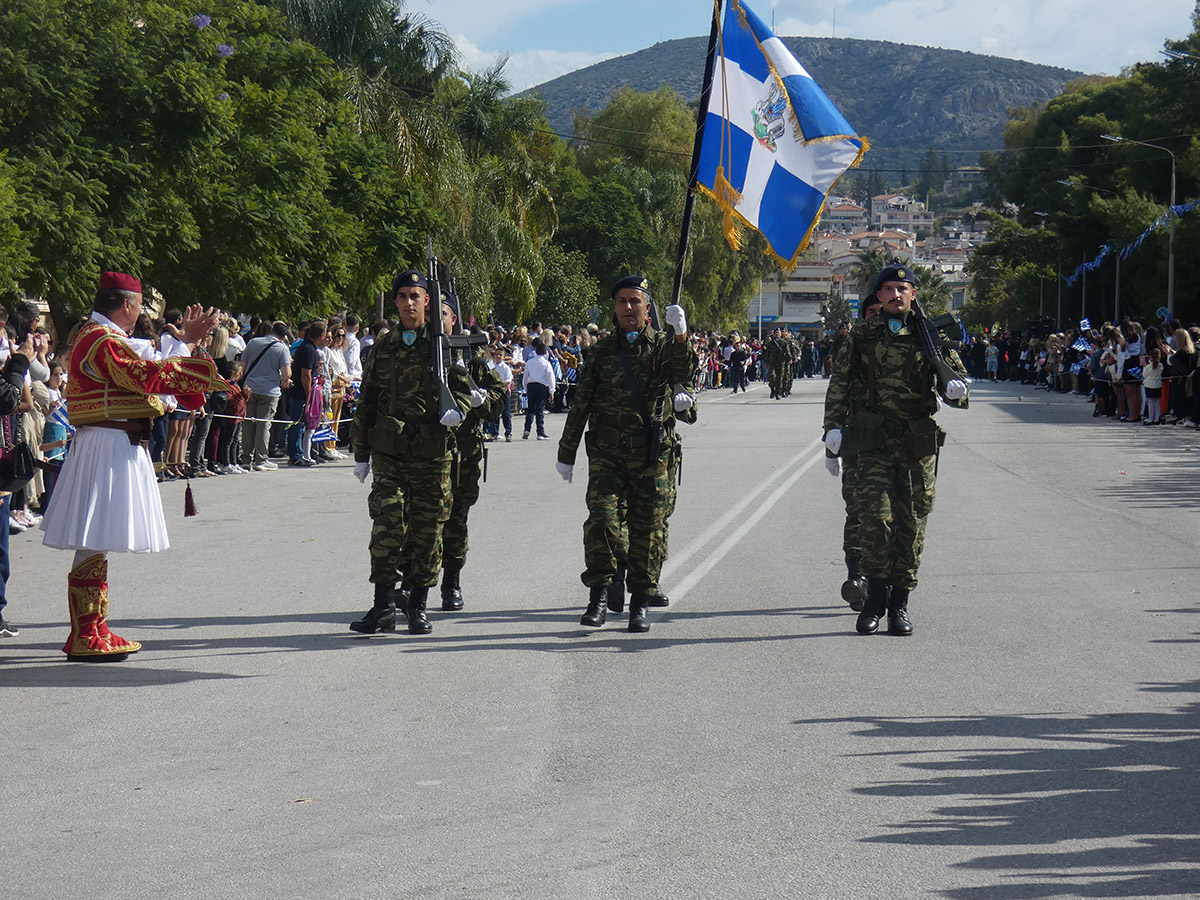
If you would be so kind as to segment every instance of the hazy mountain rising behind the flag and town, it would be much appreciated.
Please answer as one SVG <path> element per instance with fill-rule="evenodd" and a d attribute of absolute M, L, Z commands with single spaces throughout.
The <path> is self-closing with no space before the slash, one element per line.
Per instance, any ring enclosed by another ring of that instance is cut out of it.
<path fill-rule="evenodd" d="M 934 146 L 954 166 L 1003 146 L 1008 109 L 1044 103 L 1082 72 L 961 50 L 887 41 L 784 37 L 796 58 L 871 142 L 863 168 L 916 173 Z M 652 91 L 670 84 L 689 103 L 700 97 L 703 37 L 664 41 L 530 88 L 554 131 L 571 133 L 575 110 L 604 108 L 613 89 Z"/>

